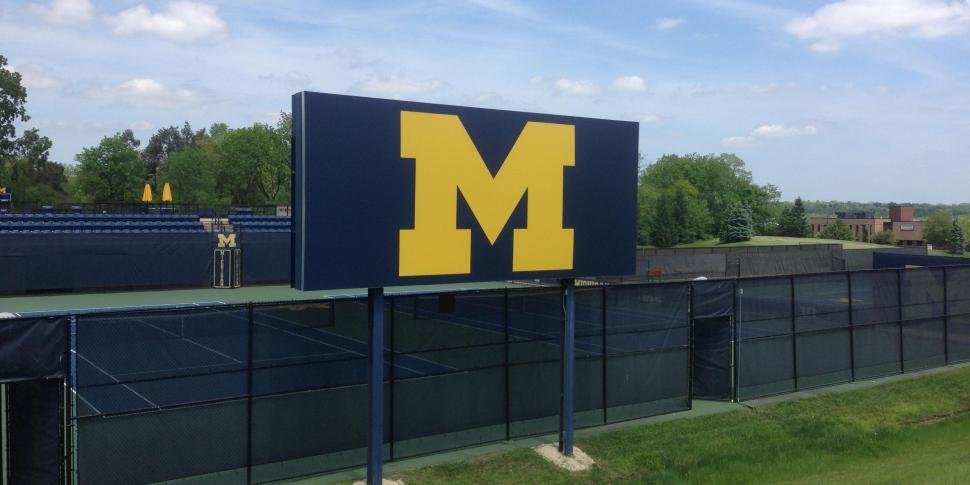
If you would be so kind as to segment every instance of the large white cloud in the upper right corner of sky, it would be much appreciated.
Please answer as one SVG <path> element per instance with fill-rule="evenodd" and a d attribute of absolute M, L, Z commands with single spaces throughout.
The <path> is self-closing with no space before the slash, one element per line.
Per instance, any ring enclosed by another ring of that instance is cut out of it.
<path fill-rule="evenodd" d="M 970 2 L 948 0 L 842 0 L 785 24 L 788 33 L 813 41 L 812 50 L 836 52 L 859 36 L 935 39 L 970 30 Z"/>

